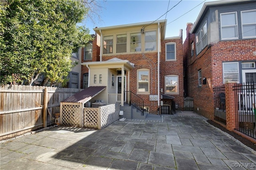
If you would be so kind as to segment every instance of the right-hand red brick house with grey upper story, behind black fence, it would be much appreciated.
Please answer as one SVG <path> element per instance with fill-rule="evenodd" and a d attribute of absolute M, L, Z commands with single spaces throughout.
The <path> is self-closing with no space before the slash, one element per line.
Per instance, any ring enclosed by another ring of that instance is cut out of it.
<path fill-rule="evenodd" d="M 204 3 L 187 23 L 183 52 L 185 96 L 194 99 L 194 111 L 214 119 L 215 86 L 256 82 L 256 1 Z"/>

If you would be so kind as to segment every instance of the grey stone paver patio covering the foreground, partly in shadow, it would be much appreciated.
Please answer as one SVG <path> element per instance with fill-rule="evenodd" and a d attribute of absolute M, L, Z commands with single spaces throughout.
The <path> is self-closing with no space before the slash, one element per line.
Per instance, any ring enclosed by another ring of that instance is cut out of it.
<path fill-rule="evenodd" d="M 0 145 L 1 170 L 240 170 L 256 155 L 201 116 L 116 121 L 102 130 L 54 127 Z"/>

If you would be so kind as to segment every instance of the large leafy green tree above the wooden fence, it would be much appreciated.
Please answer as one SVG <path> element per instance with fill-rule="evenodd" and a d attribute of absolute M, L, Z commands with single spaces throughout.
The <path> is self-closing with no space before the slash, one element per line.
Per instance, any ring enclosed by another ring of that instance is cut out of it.
<path fill-rule="evenodd" d="M 61 83 L 72 69 L 72 51 L 91 40 L 77 26 L 88 13 L 82 0 L 6 0 L 0 9 L 1 84 L 31 85 L 39 75 Z"/>

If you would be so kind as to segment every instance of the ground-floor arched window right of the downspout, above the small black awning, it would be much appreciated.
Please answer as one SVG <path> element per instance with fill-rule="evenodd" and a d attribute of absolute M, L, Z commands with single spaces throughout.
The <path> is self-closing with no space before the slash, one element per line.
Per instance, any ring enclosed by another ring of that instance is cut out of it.
<path fill-rule="evenodd" d="M 166 94 L 178 94 L 178 76 L 168 75 L 164 76 L 165 79 L 165 93 Z"/>

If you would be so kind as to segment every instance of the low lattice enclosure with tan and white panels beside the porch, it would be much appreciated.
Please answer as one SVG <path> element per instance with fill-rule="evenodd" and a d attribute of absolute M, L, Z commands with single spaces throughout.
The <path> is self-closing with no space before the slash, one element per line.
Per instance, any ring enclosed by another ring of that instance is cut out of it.
<path fill-rule="evenodd" d="M 82 104 L 64 103 L 60 111 L 60 125 L 102 129 L 119 119 L 120 104 L 98 108 L 83 107 Z"/>

